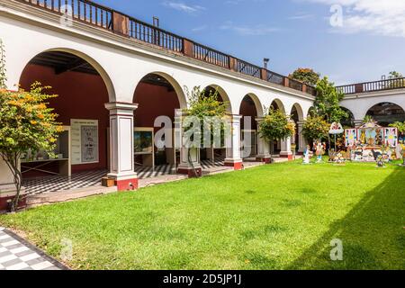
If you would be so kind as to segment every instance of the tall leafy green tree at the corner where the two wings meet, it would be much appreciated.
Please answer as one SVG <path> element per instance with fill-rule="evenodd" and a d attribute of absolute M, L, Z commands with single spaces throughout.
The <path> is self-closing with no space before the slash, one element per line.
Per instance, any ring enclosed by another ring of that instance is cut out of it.
<path fill-rule="evenodd" d="M 339 122 L 349 117 L 347 112 L 340 107 L 340 102 L 344 99 L 345 94 L 338 92 L 334 83 L 329 82 L 328 77 L 320 79 L 316 89 L 317 95 L 312 110 L 315 115 L 329 123 Z"/>

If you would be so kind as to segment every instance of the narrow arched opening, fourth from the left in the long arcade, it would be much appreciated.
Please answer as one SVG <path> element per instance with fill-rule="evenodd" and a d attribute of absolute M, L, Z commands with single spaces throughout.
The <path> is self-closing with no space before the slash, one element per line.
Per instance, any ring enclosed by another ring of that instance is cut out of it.
<path fill-rule="evenodd" d="M 259 112 L 260 109 L 260 112 Z M 240 148 L 241 157 L 245 160 L 257 157 L 257 117 L 263 116 L 261 105 L 257 96 L 247 94 L 242 99 L 239 107 L 239 115 L 242 116 L 240 122 Z"/>

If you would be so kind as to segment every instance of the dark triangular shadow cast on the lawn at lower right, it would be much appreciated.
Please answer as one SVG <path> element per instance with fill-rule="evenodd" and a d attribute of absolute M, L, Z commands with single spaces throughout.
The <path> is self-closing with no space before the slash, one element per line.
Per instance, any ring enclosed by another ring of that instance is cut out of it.
<path fill-rule="evenodd" d="M 288 269 L 405 269 L 405 169 L 396 168 Z M 343 260 L 330 259 L 332 239 Z"/>

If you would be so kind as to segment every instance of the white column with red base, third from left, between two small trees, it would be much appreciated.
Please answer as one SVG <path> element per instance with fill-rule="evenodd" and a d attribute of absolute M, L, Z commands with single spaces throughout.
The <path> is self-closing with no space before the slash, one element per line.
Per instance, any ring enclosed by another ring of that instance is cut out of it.
<path fill-rule="evenodd" d="M 225 144 L 227 148 L 227 157 L 225 166 L 232 166 L 235 170 L 242 168 L 242 158 L 240 156 L 240 120 L 241 115 L 229 115 L 226 130 Z"/>

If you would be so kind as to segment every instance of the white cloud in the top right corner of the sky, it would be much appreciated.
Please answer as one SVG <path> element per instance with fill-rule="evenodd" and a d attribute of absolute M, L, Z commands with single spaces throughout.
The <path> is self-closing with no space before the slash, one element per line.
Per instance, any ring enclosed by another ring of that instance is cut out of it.
<path fill-rule="evenodd" d="M 320 4 L 340 4 L 343 26 L 332 31 L 369 32 L 384 36 L 405 37 L 404 0 L 305 0 Z"/>

